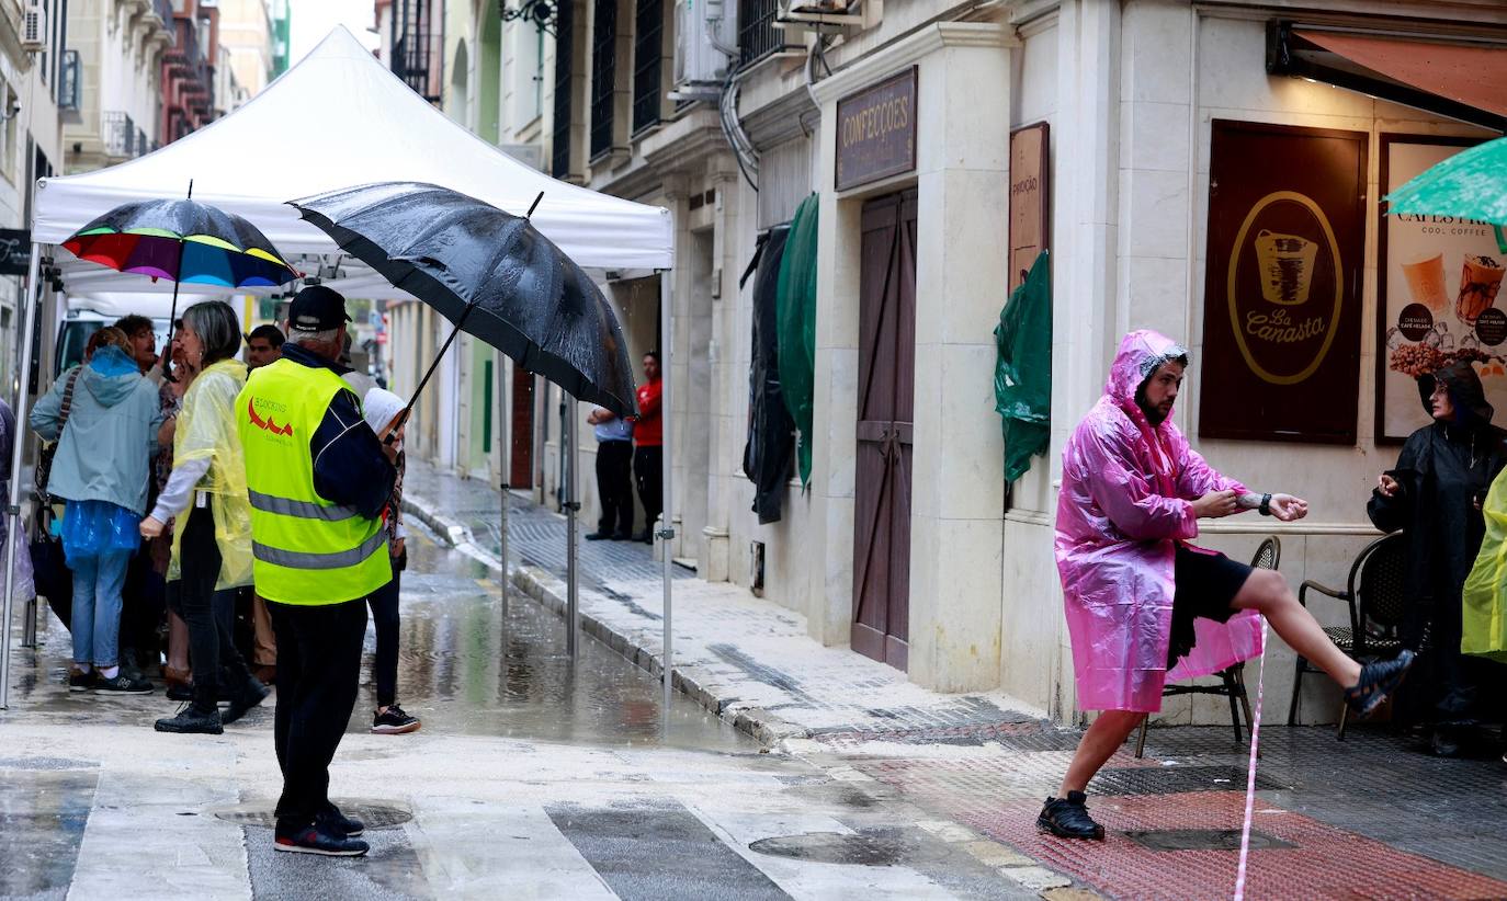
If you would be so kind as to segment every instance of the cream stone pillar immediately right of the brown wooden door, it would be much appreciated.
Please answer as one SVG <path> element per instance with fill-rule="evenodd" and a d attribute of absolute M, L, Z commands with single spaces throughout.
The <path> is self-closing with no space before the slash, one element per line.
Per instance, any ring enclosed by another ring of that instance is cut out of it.
<path fill-rule="evenodd" d="M 1011 66 L 999 26 L 936 26 L 919 63 L 910 678 L 999 681 L 1004 444 L 993 328 L 1008 283 Z M 980 86 L 993 98 L 978 102 Z"/>

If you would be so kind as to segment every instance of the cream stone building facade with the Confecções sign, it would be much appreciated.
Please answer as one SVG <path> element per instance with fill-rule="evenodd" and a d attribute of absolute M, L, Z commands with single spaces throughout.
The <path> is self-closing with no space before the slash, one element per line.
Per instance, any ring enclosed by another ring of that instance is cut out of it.
<path fill-rule="evenodd" d="M 1192 369 L 1175 417 L 1215 467 L 1251 487 L 1311 502 L 1311 515 L 1301 523 L 1245 515 L 1206 524 L 1201 542 L 1246 557 L 1275 533 L 1282 541 L 1281 570 L 1295 588 L 1307 579 L 1343 585 L 1356 551 L 1377 536 L 1365 518 L 1365 500 L 1376 475 L 1395 460 L 1394 447 L 1370 437 L 1377 217 L 1365 217 L 1359 359 L 1350 386 L 1359 437 L 1343 446 L 1200 440 L 1200 392 L 1210 365 L 1203 334 L 1212 124 L 1233 119 L 1361 133 L 1370 151 L 1365 193 L 1379 197 L 1382 133 L 1493 133 L 1356 90 L 1269 75 L 1267 24 L 1299 20 L 1340 32 L 1385 30 L 1403 39 L 1468 35 L 1498 45 L 1507 41 L 1507 8 L 1487 0 L 1398 2 L 1386 5 L 1383 21 L 1374 3 L 1358 0 L 1335 0 L 1322 12 L 1287 0 L 964 6 L 865 0 L 864 21 L 847 26 L 818 65 L 806 65 L 811 33 L 787 32 L 791 47 L 740 71 L 737 118 L 758 152 L 755 191 L 708 102 L 666 104 L 651 128 L 618 128 L 603 152 L 589 152 L 591 104 L 579 101 L 591 98 L 594 6 L 573 6 L 568 36 L 577 65 L 570 78 L 553 72 L 553 36 L 546 38 L 543 62 L 535 65 L 520 53 L 532 26 L 503 23 L 496 140 L 532 143 L 552 160 L 556 110 L 567 111 L 573 143 L 565 176 L 663 205 L 675 217 L 669 378 L 677 488 L 669 515 L 677 538 L 671 553 L 692 562 L 701 577 L 749 585 L 755 548 L 761 548 L 763 597 L 805 615 L 809 633 L 823 643 L 850 642 L 862 209 L 876 197 L 915 191 L 907 585 L 913 681 L 942 692 L 1001 690 L 1055 719 L 1078 716 L 1052 554 L 1055 481 L 1068 434 L 1099 398 L 1120 336 L 1135 327 L 1153 327 L 1189 345 Z M 628 0 L 616 5 L 619 29 L 634 12 Z M 619 42 L 628 38 L 618 35 Z M 912 66 L 918 78 L 913 170 L 836 190 L 836 104 Z M 621 69 L 619 60 L 619 75 Z M 541 77 L 535 101 L 529 92 Z M 631 98 L 631 83 L 619 84 Z M 568 86 L 577 102 L 558 104 L 556 86 Z M 1052 443 L 1014 487 L 1005 512 L 993 327 L 1007 300 L 1008 146 L 1013 130 L 1038 122 L 1050 128 Z M 738 288 L 738 274 L 758 234 L 788 220 L 811 191 L 820 194 L 821 209 L 814 472 L 809 490 L 790 484 L 782 520 L 761 526 L 749 509 L 754 487 L 741 472 L 752 303 L 749 291 Z M 636 359 L 656 347 L 660 310 L 654 282 L 633 276 L 640 274 L 607 273 L 604 280 Z M 395 325 L 395 351 L 442 337 L 408 331 Z M 511 380 L 511 366 L 505 369 Z M 464 395 L 461 381 L 458 393 Z M 511 393 L 509 381 L 505 396 Z M 558 502 L 559 423 L 559 393 L 538 386 L 527 443 L 530 487 L 540 500 Z M 512 422 L 494 425 L 511 428 Z M 589 429 L 582 428 L 582 435 L 579 472 L 589 524 L 595 517 L 594 449 Z M 1316 612 L 1337 624 L 1344 618 L 1338 604 Z M 1293 658 L 1275 637 L 1273 649 L 1266 689 L 1285 701 Z M 1337 695 L 1320 680 L 1308 686 L 1305 719 L 1331 719 Z M 1221 704 L 1169 702 L 1163 719 L 1222 722 Z"/>

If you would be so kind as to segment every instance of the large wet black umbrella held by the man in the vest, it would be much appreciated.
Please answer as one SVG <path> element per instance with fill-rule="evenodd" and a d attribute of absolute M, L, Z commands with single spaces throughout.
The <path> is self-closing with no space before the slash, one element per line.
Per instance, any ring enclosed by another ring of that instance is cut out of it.
<path fill-rule="evenodd" d="M 591 277 L 526 215 L 422 182 L 378 182 L 291 203 L 457 330 L 577 399 L 634 413 L 618 318 Z"/>

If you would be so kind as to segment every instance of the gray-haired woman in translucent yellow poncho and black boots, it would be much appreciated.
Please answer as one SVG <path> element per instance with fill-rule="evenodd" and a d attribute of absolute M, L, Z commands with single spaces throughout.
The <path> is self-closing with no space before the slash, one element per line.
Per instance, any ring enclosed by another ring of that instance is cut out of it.
<path fill-rule="evenodd" d="M 178 716 L 157 720 L 157 731 L 219 735 L 268 695 L 231 633 L 235 589 L 252 583 L 252 508 L 235 431 L 246 365 L 234 359 L 241 327 L 225 301 L 184 310 L 179 334 L 193 381 L 173 432 L 173 472 L 152 515 L 142 521 L 142 535 L 155 538 L 178 518 L 167 595 L 188 625 L 194 681 L 193 701 Z M 231 693 L 223 716 L 216 705 L 222 672 Z"/>

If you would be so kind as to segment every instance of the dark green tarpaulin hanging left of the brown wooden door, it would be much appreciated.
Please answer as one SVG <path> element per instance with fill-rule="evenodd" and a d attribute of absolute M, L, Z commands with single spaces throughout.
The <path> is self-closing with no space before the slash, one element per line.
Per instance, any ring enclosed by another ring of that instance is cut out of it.
<path fill-rule="evenodd" d="M 779 262 L 779 384 L 800 429 L 800 484 L 811 482 L 811 404 L 817 368 L 817 196 L 800 202 Z"/>

